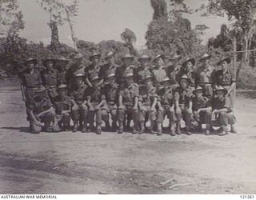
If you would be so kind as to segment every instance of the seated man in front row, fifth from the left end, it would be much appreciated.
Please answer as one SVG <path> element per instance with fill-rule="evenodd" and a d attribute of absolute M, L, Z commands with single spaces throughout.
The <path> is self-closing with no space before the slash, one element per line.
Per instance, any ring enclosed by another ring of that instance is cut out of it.
<path fill-rule="evenodd" d="M 104 79 L 105 85 L 102 87 L 102 97 L 106 98 L 106 106 L 102 108 L 102 120 L 106 124 L 106 130 L 110 130 L 110 118 L 112 120 L 112 131 L 117 130 L 117 111 L 118 111 L 118 84 L 115 82 L 115 74 L 112 70 L 106 71 Z M 105 109 L 106 108 L 106 109 Z"/>

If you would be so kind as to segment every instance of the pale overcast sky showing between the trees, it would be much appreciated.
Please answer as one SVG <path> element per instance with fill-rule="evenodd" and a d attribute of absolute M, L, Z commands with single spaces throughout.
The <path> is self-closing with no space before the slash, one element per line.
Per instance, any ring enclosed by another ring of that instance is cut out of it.
<path fill-rule="evenodd" d="M 22 37 L 31 41 L 50 42 L 50 27 L 47 22 L 49 14 L 38 5 L 36 0 L 18 0 L 26 22 Z M 203 0 L 186 0 L 187 5 L 194 8 Z M 167 0 L 168 2 L 168 0 Z M 153 16 L 150 0 L 80 0 L 78 17 L 75 18 L 75 36 L 90 42 L 102 40 L 121 40 L 120 34 L 125 28 L 134 31 L 137 37 L 136 46 L 145 44 L 144 35 L 147 25 Z M 210 30 L 206 31 L 204 40 L 219 33 L 226 18 L 203 18 L 200 14 L 186 14 L 192 26 L 206 24 Z M 67 24 L 59 28 L 60 41 L 72 45 L 70 29 Z"/>

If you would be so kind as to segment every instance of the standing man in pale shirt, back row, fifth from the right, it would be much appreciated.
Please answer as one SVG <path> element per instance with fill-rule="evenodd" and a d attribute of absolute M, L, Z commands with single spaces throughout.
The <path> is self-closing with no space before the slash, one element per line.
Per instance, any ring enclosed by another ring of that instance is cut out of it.
<path fill-rule="evenodd" d="M 152 62 L 154 62 L 154 68 L 152 70 L 154 86 L 158 87 L 160 86 L 160 82 L 167 76 L 164 55 L 158 54 Z"/>

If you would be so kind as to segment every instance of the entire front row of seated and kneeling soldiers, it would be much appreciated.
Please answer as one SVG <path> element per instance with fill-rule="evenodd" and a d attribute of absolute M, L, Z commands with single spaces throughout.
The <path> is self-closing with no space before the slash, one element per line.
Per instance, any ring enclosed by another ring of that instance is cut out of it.
<path fill-rule="evenodd" d="M 166 116 L 169 120 L 167 133 L 172 136 L 181 134 L 182 120 L 186 125 L 184 133 L 188 135 L 193 130 L 203 130 L 209 135 L 214 126 L 220 127 L 218 135 L 221 136 L 228 133 L 228 126 L 232 133 L 237 133 L 233 106 L 223 86 L 214 86 L 211 98 L 204 96 L 201 86 L 190 86 L 186 74 L 177 84 L 166 77 L 158 86 L 154 86 L 150 71 L 146 72 L 140 86 L 134 83 L 134 73 L 130 70 L 122 74 L 125 81 L 122 86 L 115 82 L 116 74 L 111 70 L 106 72 L 104 84 L 98 74 L 90 74 L 91 86 L 87 86 L 84 76 L 83 73 L 74 74 L 72 90 L 60 84 L 56 98 L 49 98 L 44 86 L 33 91 L 33 99 L 26 102 L 26 108 L 34 134 L 42 130 L 71 130 L 72 119 L 73 132 L 102 134 L 104 122 L 106 131 L 118 131 L 119 134 L 131 130 L 132 134 L 162 135 Z M 133 127 L 130 127 L 131 121 Z M 146 127 L 148 121 L 150 126 Z"/>

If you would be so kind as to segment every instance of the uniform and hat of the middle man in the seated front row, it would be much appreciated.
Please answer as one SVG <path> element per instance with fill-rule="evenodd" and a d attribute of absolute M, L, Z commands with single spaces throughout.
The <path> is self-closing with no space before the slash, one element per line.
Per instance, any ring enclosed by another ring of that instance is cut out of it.
<path fill-rule="evenodd" d="M 133 75 L 133 73 L 126 72 L 126 74 L 124 74 L 124 78 Z M 138 122 L 138 108 L 134 110 L 134 98 L 138 98 L 138 94 L 139 90 L 136 83 L 133 82 L 130 84 L 130 86 L 122 85 L 118 96 L 122 96 L 122 105 L 124 107 L 120 107 L 121 105 L 118 105 L 118 133 L 122 133 L 122 128 L 120 129 L 120 127 L 124 122 L 126 122 L 126 120 L 127 122 L 130 122 L 133 119 L 134 123 Z"/>

